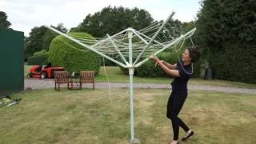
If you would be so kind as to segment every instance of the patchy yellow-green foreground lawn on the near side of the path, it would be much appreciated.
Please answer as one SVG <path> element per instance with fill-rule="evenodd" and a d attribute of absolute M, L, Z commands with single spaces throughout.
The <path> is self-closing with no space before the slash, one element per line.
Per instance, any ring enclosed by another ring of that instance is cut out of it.
<path fill-rule="evenodd" d="M 17 106 L 0 108 L 0 143 L 126 143 L 130 138 L 127 89 L 32 90 Z M 168 90 L 135 90 L 135 135 L 145 144 L 172 138 Z M 196 131 L 190 144 L 256 143 L 256 97 L 190 91 L 180 117 Z M 182 137 L 184 132 L 180 130 Z"/>

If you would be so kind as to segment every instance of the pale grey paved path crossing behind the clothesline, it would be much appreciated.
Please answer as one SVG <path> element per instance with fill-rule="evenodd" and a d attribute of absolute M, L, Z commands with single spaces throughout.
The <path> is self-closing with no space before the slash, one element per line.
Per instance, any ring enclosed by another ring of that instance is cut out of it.
<path fill-rule="evenodd" d="M 83 84 L 83 87 L 91 87 L 91 84 Z M 33 79 L 25 78 L 25 89 L 54 89 L 54 80 L 52 79 Z M 110 88 L 128 88 L 129 83 L 110 83 Z M 170 89 L 170 84 L 153 84 L 153 83 L 134 83 L 135 88 L 146 89 Z M 96 82 L 95 88 L 107 89 L 108 83 Z M 256 89 L 235 88 L 235 87 L 221 87 L 221 86 L 202 86 L 202 85 L 190 85 L 189 90 L 214 90 L 229 93 L 244 93 L 244 94 L 256 94 Z"/>

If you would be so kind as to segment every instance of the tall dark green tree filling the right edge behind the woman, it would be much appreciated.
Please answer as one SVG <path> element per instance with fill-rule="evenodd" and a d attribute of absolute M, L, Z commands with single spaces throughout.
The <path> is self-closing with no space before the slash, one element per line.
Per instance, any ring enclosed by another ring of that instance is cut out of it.
<path fill-rule="evenodd" d="M 204 0 L 197 34 L 216 78 L 256 83 L 255 0 Z"/>

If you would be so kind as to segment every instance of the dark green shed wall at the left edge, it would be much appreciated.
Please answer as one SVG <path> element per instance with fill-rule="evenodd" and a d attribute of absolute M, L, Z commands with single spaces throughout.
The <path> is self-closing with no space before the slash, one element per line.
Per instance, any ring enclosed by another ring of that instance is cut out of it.
<path fill-rule="evenodd" d="M 24 33 L 0 29 L 0 96 L 24 90 Z"/>

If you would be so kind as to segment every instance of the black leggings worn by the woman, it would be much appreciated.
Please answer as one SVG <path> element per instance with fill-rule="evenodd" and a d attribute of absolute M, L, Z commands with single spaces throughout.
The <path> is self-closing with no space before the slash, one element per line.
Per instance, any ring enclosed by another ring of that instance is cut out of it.
<path fill-rule="evenodd" d="M 178 140 L 178 130 L 179 126 L 182 127 L 186 132 L 190 130 L 186 126 L 185 122 L 182 122 L 181 118 L 178 118 L 178 113 L 182 110 L 182 106 L 186 101 L 187 93 L 184 92 L 174 92 L 172 91 L 167 103 L 167 118 L 170 118 L 174 130 L 174 140 Z"/>

